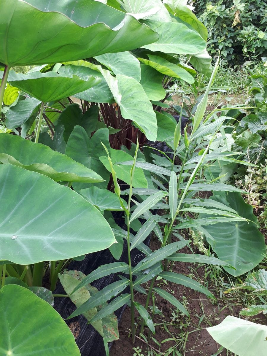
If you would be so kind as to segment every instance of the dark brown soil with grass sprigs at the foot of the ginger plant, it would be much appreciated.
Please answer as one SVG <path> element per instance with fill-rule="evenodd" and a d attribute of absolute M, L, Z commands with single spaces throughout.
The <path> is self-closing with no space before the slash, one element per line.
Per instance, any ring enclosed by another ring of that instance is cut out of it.
<path fill-rule="evenodd" d="M 154 245 L 154 246 L 153 246 Z M 152 243 L 152 250 L 158 248 L 157 242 Z M 184 248 L 180 252 L 190 253 L 188 248 Z M 198 251 L 195 251 L 196 253 Z M 176 262 L 172 267 L 172 271 L 176 273 L 183 273 L 189 275 L 192 273 L 190 270 L 192 263 Z M 191 278 L 196 279 L 201 284 L 206 286 L 204 281 L 204 269 L 205 267 L 199 266 L 195 276 L 190 275 Z M 209 333 L 206 331 L 206 327 L 219 324 L 227 315 L 239 316 L 239 311 L 242 309 L 241 305 L 231 305 L 231 309 L 226 307 L 226 302 L 223 299 L 227 297 L 220 297 L 216 300 L 211 300 L 206 295 L 195 292 L 192 289 L 177 285 L 171 282 L 167 282 L 167 285 L 162 281 L 157 281 L 161 288 L 166 289 L 182 302 L 182 297 L 185 297 L 188 305 L 188 312 L 190 318 L 186 316 L 178 315 L 176 321 L 172 321 L 172 312 L 176 308 L 169 303 L 166 299 L 157 295 L 156 305 L 161 310 L 162 315 L 155 315 L 154 323 L 156 323 L 156 335 L 152 335 L 160 344 L 149 340 L 149 349 L 155 351 L 155 355 L 169 355 L 170 348 L 175 348 L 181 355 L 188 356 L 211 356 L 215 354 L 220 345 L 212 339 Z M 143 285 L 147 288 L 146 285 Z M 212 289 L 211 289 L 212 292 Z M 215 295 L 215 297 L 218 297 Z M 146 296 L 140 293 L 136 294 L 135 300 L 142 305 L 145 304 Z M 152 305 L 152 302 L 151 304 Z M 138 318 L 138 314 L 135 315 Z M 158 325 L 157 325 L 158 324 Z M 147 350 L 147 343 L 138 336 L 136 337 L 135 344 L 132 345 L 131 337 L 129 337 L 129 329 L 131 325 L 130 308 L 126 308 L 124 316 L 119 324 L 120 339 L 115 341 L 110 356 L 131 356 L 134 354 L 133 346 L 139 346 L 142 349 L 142 353 L 146 356 L 145 350 Z M 164 328 L 165 326 L 165 328 Z M 148 329 L 145 329 L 145 336 L 148 335 Z M 137 330 L 138 335 L 138 330 Z M 163 340 L 168 340 L 161 344 Z M 170 355 L 179 355 L 173 354 Z M 231 355 L 228 353 L 228 355 Z M 226 356 L 226 351 L 220 353 L 220 356 Z"/>

